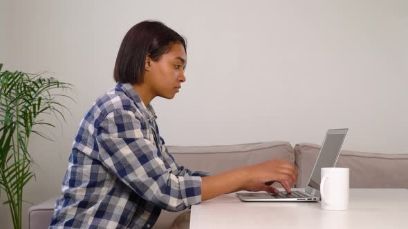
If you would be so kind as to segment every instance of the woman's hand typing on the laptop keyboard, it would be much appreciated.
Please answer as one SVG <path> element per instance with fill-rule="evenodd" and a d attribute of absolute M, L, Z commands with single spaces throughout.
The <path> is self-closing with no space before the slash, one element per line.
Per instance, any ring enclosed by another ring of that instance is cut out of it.
<path fill-rule="evenodd" d="M 257 163 L 254 166 L 247 166 L 245 170 L 247 179 L 243 183 L 243 190 L 277 193 L 279 190 L 269 186 L 277 181 L 281 183 L 286 192 L 290 193 L 290 186 L 297 181 L 297 168 L 280 159 L 272 159 Z"/>

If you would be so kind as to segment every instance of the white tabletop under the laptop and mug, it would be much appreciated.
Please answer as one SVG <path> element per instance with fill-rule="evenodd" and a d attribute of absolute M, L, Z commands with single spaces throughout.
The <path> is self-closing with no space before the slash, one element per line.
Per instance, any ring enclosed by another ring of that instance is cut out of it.
<path fill-rule="evenodd" d="M 241 202 L 232 193 L 192 206 L 190 228 L 408 228 L 408 189 L 351 189 L 346 211 L 322 210 L 320 202 Z"/>

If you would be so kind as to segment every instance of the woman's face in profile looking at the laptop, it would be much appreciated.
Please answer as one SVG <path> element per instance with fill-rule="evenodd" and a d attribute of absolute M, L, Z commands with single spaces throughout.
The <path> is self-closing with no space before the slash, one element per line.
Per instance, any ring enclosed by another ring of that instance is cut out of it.
<path fill-rule="evenodd" d="M 187 54 L 183 45 L 175 43 L 158 61 L 146 59 L 145 82 L 155 96 L 173 99 L 185 82 Z"/>

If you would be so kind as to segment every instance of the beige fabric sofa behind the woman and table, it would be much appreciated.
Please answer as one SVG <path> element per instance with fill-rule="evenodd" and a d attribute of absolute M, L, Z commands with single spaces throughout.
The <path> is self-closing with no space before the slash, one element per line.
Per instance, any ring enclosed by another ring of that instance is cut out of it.
<path fill-rule="evenodd" d="M 299 169 L 296 187 L 303 188 L 320 150 L 319 145 L 299 143 L 293 148 L 285 141 L 232 146 L 168 146 L 180 165 L 212 175 L 253 165 L 268 159 L 283 159 Z M 408 188 L 408 154 L 389 155 L 343 150 L 336 167 L 350 168 L 351 188 Z M 279 183 L 275 187 L 281 188 Z M 48 228 L 57 197 L 33 206 L 28 212 L 28 228 Z M 154 228 L 169 228 L 181 212 L 162 211 Z"/>

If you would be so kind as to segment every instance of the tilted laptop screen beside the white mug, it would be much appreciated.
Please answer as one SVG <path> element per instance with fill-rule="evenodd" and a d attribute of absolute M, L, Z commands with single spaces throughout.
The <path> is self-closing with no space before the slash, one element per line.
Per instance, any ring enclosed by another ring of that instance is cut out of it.
<path fill-rule="evenodd" d="M 322 149 L 315 163 L 315 168 L 310 177 L 308 186 L 320 190 L 320 169 L 333 167 L 337 161 L 337 156 L 340 154 L 340 149 L 346 137 L 346 132 L 332 134 L 330 130 L 327 132 L 326 139 L 323 142 Z"/>

